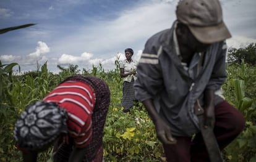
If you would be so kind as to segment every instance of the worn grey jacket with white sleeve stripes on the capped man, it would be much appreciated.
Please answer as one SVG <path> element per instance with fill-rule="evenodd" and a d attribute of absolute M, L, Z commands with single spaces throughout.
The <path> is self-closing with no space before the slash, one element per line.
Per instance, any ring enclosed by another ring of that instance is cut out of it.
<path fill-rule="evenodd" d="M 199 131 L 194 114 L 197 99 L 203 105 L 205 89 L 218 90 L 226 80 L 226 43 L 211 44 L 204 54 L 202 70 L 193 79 L 177 56 L 171 29 L 156 33 L 145 44 L 134 83 L 136 99 L 153 99 L 155 108 L 174 136 L 192 136 Z M 215 95 L 215 105 L 223 99 Z"/>

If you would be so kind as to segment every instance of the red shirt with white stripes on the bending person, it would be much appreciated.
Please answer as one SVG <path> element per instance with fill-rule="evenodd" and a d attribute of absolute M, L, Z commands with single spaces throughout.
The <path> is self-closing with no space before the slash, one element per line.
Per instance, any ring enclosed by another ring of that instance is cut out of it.
<path fill-rule="evenodd" d="M 92 140 L 92 113 L 95 105 L 93 89 L 80 81 L 66 81 L 51 91 L 45 102 L 56 102 L 67 110 L 69 136 L 76 147 L 87 146 Z"/>

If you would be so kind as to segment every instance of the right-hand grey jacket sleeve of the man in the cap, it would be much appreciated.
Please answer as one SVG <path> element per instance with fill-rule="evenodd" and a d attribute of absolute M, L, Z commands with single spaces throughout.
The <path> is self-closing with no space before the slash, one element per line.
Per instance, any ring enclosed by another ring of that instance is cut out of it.
<path fill-rule="evenodd" d="M 211 73 L 210 80 L 207 84 L 207 89 L 218 90 L 226 81 L 226 42 L 220 43 L 218 46 L 218 54 L 216 56 L 215 65 Z"/>

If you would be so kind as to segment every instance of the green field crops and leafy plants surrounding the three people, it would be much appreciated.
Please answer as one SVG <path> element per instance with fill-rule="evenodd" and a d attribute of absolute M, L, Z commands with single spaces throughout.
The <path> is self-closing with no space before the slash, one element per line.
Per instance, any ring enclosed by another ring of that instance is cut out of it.
<path fill-rule="evenodd" d="M 223 85 L 224 96 L 242 112 L 246 125 L 239 137 L 223 151 L 226 161 L 256 161 L 256 67 L 252 59 L 245 59 L 248 55 L 250 58 L 256 55 L 255 46 L 250 44 L 243 49 L 231 49 L 228 53 L 230 62 L 228 79 Z M 164 161 L 163 148 L 142 103 L 136 103 L 130 113 L 122 112 L 122 79 L 118 61 L 111 71 L 105 71 L 101 65 L 93 66 L 92 70 L 79 70 L 77 65 L 68 68 L 58 65 L 60 72 L 53 74 L 45 62 L 35 71 L 14 75 L 14 67 L 20 68 L 17 63 L 2 65 L 0 60 L 0 161 L 22 161 L 21 153 L 15 148 L 13 131 L 23 109 L 43 99 L 67 76 L 78 73 L 103 79 L 111 90 L 103 139 L 105 161 Z M 38 161 L 50 161 L 51 151 L 49 148 L 40 153 Z"/>

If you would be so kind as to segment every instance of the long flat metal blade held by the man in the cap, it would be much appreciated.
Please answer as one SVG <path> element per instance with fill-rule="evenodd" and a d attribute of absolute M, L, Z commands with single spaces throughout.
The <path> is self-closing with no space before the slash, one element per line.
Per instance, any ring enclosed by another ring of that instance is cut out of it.
<path fill-rule="evenodd" d="M 195 115 L 197 115 L 199 120 L 200 130 L 203 136 L 203 141 L 205 142 L 205 146 L 207 148 L 207 152 L 211 162 L 223 162 L 223 158 L 221 156 L 220 148 L 218 146 L 218 142 L 216 140 L 215 134 L 213 134 L 213 128 L 204 128 L 204 116 L 203 116 L 203 108 L 200 106 L 199 101 L 195 103 Z"/>

